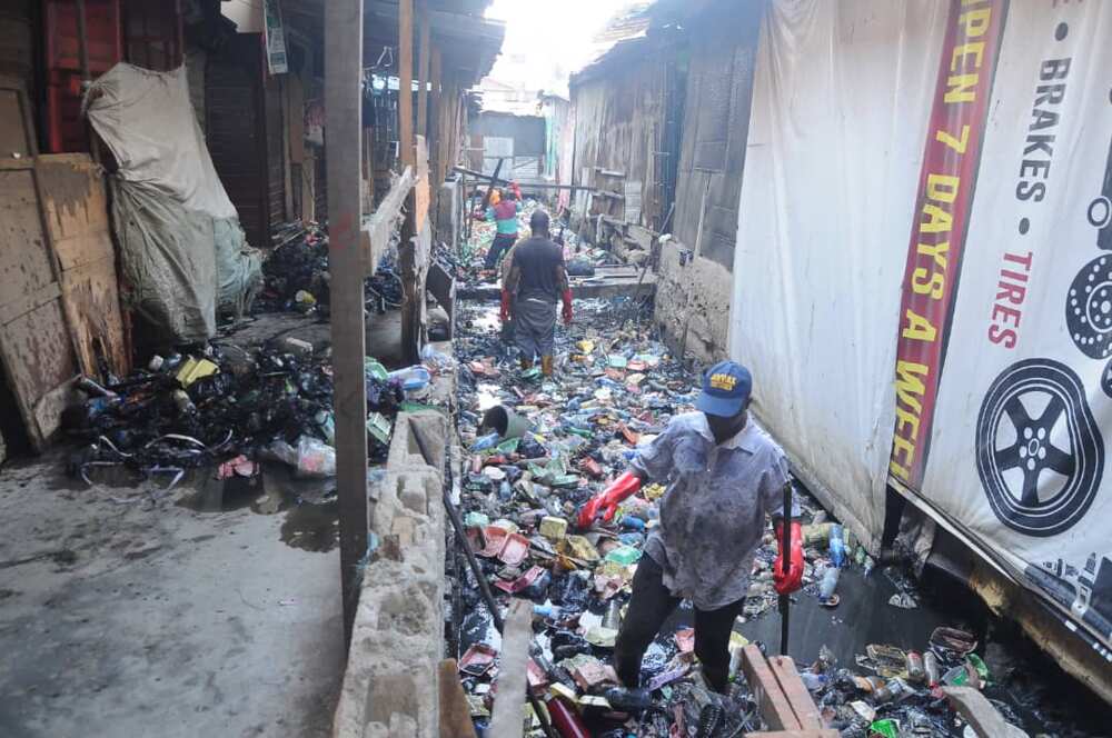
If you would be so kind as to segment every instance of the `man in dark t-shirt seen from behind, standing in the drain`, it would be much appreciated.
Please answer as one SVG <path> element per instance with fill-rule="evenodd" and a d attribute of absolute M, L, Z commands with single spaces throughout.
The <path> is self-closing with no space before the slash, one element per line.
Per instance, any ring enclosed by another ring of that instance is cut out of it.
<path fill-rule="evenodd" d="M 540 357 L 546 377 L 553 373 L 556 302 L 564 300 L 564 323 L 572 322 L 572 289 L 564 266 L 564 250 L 548 238 L 548 213 L 536 210 L 529 218 L 533 236 L 513 250 L 509 275 L 502 283 L 502 320 L 514 313 L 514 333 L 522 351 L 522 368 Z"/>

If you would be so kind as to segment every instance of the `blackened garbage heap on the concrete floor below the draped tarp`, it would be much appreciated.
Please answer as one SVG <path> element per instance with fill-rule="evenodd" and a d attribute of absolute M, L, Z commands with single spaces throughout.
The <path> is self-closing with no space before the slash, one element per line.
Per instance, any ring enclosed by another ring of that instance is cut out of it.
<path fill-rule="evenodd" d="M 365 361 L 367 440 L 374 461 L 386 458 L 394 419 L 421 402 L 447 357 L 387 371 Z M 63 427 L 82 443 L 69 470 L 91 483 L 98 467 L 126 467 L 145 477 L 216 467 L 221 478 L 250 477 L 277 460 L 299 477 L 336 473 L 330 351 L 289 336 L 252 349 L 214 342 L 191 356 L 155 356 L 146 368 L 100 385 L 83 378 L 85 401 L 67 408 Z"/>

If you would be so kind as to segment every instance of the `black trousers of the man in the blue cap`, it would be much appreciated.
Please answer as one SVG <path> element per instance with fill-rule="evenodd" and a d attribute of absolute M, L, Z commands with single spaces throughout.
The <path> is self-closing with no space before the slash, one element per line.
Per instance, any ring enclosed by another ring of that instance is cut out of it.
<path fill-rule="evenodd" d="M 633 577 L 633 599 L 614 646 L 614 666 L 626 687 L 637 687 L 641 659 L 661 626 L 679 605 L 664 586 L 664 570 L 651 556 L 643 556 Z M 745 598 L 717 610 L 695 608 L 695 656 L 711 687 L 726 691 L 729 678 L 729 632 L 742 614 Z"/>

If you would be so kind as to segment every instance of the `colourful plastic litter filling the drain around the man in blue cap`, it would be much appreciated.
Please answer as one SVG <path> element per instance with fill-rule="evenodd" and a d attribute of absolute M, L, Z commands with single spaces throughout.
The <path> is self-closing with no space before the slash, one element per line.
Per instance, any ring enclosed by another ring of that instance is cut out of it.
<path fill-rule="evenodd" d="M 514 350 L 499 338 L 493 308 L 464 308 L 456 355 L 459 430 L 469 449 L 460 493 L 466 536 L 499 606 L 512 597 L 533 602 L 530 688 L 546 699 L 549 712 L 570 710 L 576 730 L 583 730 L 560 735 L 709 737 L 756 730 L 757 706 L 738 674 L 747 639 L 734 632 L 731 640 L 729 694 L 712 691 L 699 675 L 694 631 L 682 625 L 691 622 L 689 604 L 645 656 L 642 686 L 651 699 L 620 689 L 613 669 L 631 581 L 664 488 L 646 486 L 613 523 L 592 530 L 576 530 L 576 511 L 625 470 L 638 445 L 693 409 L 699 387 L 698 375 L 669 356 L 646 328 L 651 323 L 626 326 L 623 313 L 613 301 L 577 300 L 576 322 L 557 329 L 556 371 L 545 378 L 535 367 L 518 368 Z M 875 561 L 812 498 L 798 497 L 806 567 L 795 598 L 813 597 L 836 611 L 841 575 L 852 569 L 868 576 Z M 770 526 L 742 624 L 775 612 L 775 554 Z M 916 607 L 911 581 L 893 576 L 897 594 L 880 606 Z M 458 569 L 454 596 L 460 676 L 481 731 L 493 705 L 500 639 L 466 568 Z M 964 724 L 937 688 L 987 681 L 975 646 L 964 630 L 939 629 L 922 651 L 876 645 L 855 664 L 840 665 L 823 649 L 815 664 L 800 669 L 823 718 L 843 736 L 962 736 Z M 539 727 L 534 714 L 530 735 L 543 735 Z"/>

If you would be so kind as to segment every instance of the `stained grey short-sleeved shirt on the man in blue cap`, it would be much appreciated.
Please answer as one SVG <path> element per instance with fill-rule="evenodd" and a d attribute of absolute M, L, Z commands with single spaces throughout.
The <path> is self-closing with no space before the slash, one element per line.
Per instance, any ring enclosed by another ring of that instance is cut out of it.
<path fill-rule="evenodd" d="M 752 418 L 716 446 L 706 416 L 689 412 L 638 449 L 632 466 L 666 486 L 659 527 L 645 542 L 665 587 L 701 610 L 744 598 L 764 517 L 783 512 L 788 471 L 780 446 Z"/>

